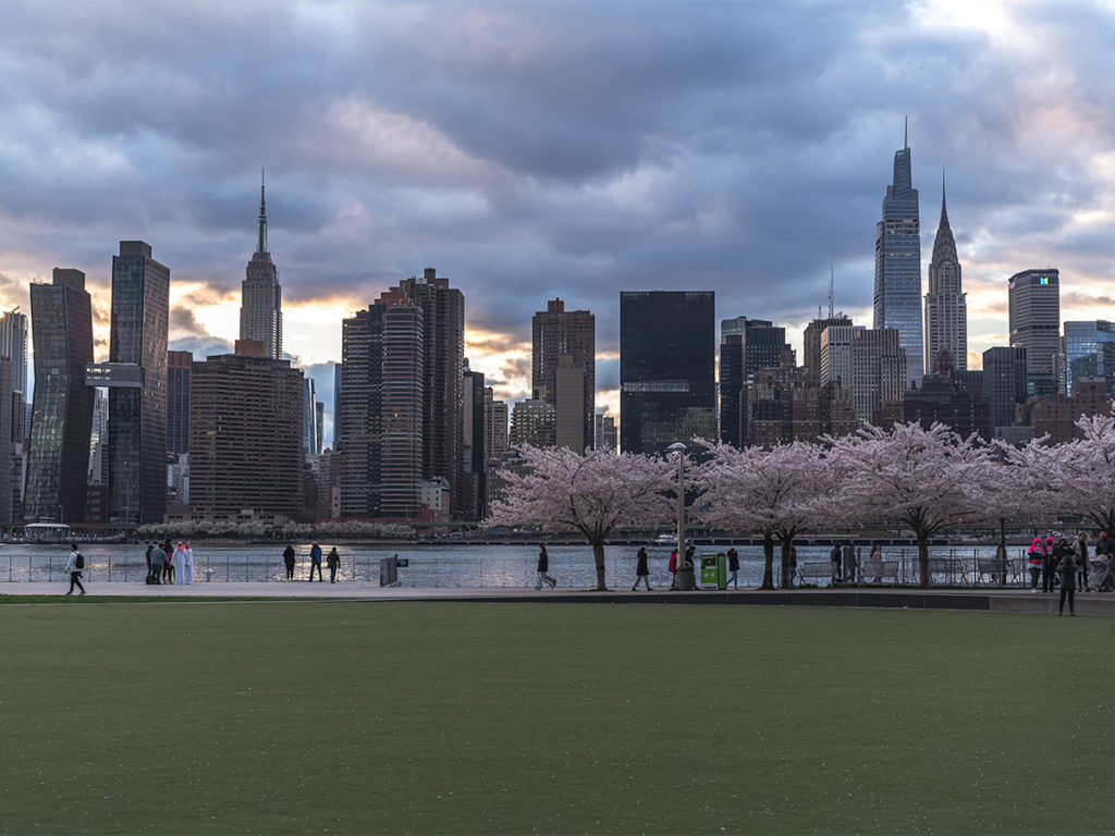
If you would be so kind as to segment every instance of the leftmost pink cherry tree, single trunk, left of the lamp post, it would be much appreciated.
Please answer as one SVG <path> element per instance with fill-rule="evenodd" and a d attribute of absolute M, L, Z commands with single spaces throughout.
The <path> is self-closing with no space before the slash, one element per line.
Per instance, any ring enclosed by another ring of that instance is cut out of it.
<path fill-rule="evenodd" d="M 541 525 L 575 529 L 592 545 L 597 589 L 604 583 L 604 542 L 617 526 L 669 518 L 677 488 L 672 463 L 610 450 L 574 453 L 564 447 L 521 447 L 525 466 L 504 469 L 504 499 L 492 507 L 488 525 Z"/>

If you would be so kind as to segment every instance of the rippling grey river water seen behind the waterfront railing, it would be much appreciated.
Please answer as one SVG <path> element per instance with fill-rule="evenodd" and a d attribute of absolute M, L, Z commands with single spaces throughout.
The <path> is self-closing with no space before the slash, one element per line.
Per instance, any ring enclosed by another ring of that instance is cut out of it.
<path fill-rule="evenodd" d="M 322 543 L 328 553 L 332 544 Z M 211 571 L 213 583 L 229 581 L 275 581 L 283 582 L 285 571 L 282 563 L 283 544 L 212 544 L 194 545 L 194 577 L 196 582 L 205 582 L 205 570 Z M 698 555 L 727 551 L 728 546 L 716 548 L 698 547 Z M 737 546 L 740 557 L 739 585 L 758 586 L 763 580 L 762 546 Z M 607 564 L 605 579 L 611 587 L 623 589 L 634 583 L 636 553 L 638 546 L 607 546 L 604 557 Z M 310 568 L 310 546 L 295 546 L 298 563 L 294 570 L 295 580 L 304 581 Z M 592 548 L 589 545 L 553 545 L 547 546 L 550 553 L 550 574 L 558 580 L 559 587 L 588 589 L 595 585 L 595 568 L 592 560 Z M 932 557 L 960 561 L 963 576 L 937 576 L 934 582 L 971 581 L 977 575 L 976 558 L 992 557 L 993 546 L 939 546 L 931 550 Z M 1011 547 L 1011 583 L 1020 583 L 1020 575 L 1015 576 L 1016 567 L 1020 566 L 1022 550 Z M 144 553 L 145 545 L 123 544 L 84 544 L 86 566 L 83 577 L 93 582 L 143 583 L 147 573 Z M 535 562 L 536 545 L 465 545 L 465 544 L 338 544 L 337 552 L 341 563 L 338 581 L 379 582 L 379 561 L 382 557 L 398 555 L 400 560 L 409 561 L 409 565 L 398 571 L 403 586 L 419 587 L 506 587 L 529 589 L 536 581 Z M 650 555 L 650 585 L 667 587 L 670 585 L 670 573 L 667 568 L 669 546 L 648 545 Z M 0 593 L 3 582 L 59 582 L 64 580 L 69 547 L 66 545 L 32 545 L 0 544 Z M 867 550 L 862 550 L 861 565 L 866 565 Z M 917 572 L 917 548 L 893 546 L 884 548 L 886 561 L 898 564 L 900 579 L 903 582 L 914 582 Z M 827 562 L 827 546 L 802 545 L 797 547 L 799 564 L 805 562 Z M 323 567 L 326 576 L 329 571 Z M 778 582 L 779 556 L 775 551 L 775 582 Z M 811 577 L 808 583 L 821 586 L 828 585 L 825 577 Z"/>

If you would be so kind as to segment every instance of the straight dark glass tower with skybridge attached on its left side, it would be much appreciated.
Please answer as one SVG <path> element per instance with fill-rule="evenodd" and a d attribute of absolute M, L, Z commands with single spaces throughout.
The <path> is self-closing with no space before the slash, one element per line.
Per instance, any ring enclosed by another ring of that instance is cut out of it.
<path fill-rule="evenodd" d="M 86 380 L 108 391 L 108 518 L 161 523 L 166 509 L 166 340 L 171 271 L 142 241 L 113 256 L 109 361 Z M 83 468 L 84 469 L 84 468 Z"/>

